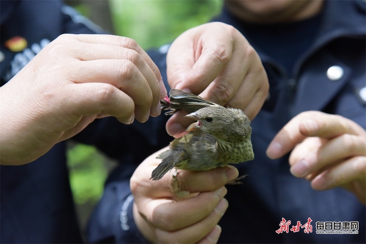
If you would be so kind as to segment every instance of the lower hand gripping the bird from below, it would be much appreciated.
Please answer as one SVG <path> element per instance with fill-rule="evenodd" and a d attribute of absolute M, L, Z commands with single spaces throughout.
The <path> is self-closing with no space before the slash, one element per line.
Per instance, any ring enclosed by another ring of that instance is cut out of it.
<path fill-rule="evenodd" d="M 224 185 L 238 177 L 238 170 L 179 170 L 180 189 L 191 193 L 179 197 L 171 190 L 173 172 L 159 181 L 149 180 L 164 150 L 146 158 L 131 177 L 136 225 L 152 243 L 216 243 L 221 234 L 217 223 L 228 206 Z"/>

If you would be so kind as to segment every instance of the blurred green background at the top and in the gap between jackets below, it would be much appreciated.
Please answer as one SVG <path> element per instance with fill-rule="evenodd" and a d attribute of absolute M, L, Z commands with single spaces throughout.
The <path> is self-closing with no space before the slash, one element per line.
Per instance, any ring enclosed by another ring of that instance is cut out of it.
<path fill-rule="evenodd" d="M 144 49 L 159 48 L 185 30 L 220 13 L 222 0 L 65 0 L 112 34 L 133 38 Z M 68 143 L 70 184 L 82 228 L 117 162 L 96 148 Z"/>

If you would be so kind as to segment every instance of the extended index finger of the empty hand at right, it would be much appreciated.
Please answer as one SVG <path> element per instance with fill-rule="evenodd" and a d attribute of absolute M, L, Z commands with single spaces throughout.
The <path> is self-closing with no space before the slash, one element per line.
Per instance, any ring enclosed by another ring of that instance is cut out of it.
<path fill-rule="evenodd" d="M 318 136 L 332 139 L 341 134 L 360 134 L 363 129 L 345 117 L 318 111 L 307 111 L 291 119 L 273 138 L 267 148 L 271 159 L 282 157 L 305 137 Z"/>

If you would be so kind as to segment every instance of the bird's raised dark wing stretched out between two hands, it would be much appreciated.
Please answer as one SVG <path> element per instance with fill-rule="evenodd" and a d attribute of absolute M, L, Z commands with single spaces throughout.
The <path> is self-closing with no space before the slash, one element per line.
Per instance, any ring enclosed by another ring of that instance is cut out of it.
<path fill-rule="evenodd" d="M 160 100 L 162 110 L 170 110 L 165 114 L 173 114 L 180 109 L 184 109 L 187 113 L 192 113 L 207 106 L 220 106 L 200 96 L 175 88 L 170 90 L 169 95 L 169 98 L 166 97 Z"/>

